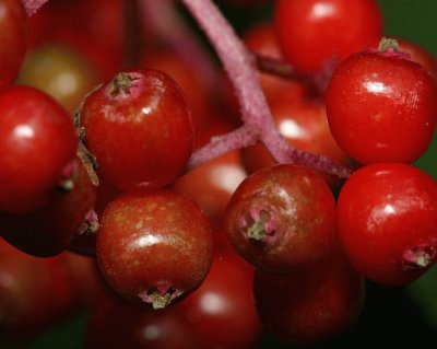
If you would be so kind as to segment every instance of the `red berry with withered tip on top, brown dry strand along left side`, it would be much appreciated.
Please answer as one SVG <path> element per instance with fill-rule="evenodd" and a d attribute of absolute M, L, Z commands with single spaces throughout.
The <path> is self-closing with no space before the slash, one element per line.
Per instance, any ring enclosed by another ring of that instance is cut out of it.
<path fill-rule="evenodd" d="M 121 72 L 82 109 L 86 146 L 98 174 L 118 189 L 160 188 L 184 171 L 193 127 L 182 91 L 164 72 Z"/>

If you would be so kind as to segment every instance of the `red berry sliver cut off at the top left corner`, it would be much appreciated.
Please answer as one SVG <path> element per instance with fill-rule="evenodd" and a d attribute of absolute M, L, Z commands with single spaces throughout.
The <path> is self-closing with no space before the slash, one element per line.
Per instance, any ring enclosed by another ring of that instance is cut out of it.
<path fill-rule="evenodd" d="M 13 82 L 24 59 L 27 18 L 21 0 L 0 1 L 0 88 Z"/>

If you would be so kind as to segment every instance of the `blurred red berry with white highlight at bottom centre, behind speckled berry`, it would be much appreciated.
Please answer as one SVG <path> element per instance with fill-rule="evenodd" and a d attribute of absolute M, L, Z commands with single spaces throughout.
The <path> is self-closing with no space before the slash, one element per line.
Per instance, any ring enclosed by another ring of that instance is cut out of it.
<path fill-rule="evenodd" d="M 214 257 L 204 282 L 179 305 L 201 348 L 255 348 L 261 324 L 252 281 L 253 269 L 235 253 Z"/>

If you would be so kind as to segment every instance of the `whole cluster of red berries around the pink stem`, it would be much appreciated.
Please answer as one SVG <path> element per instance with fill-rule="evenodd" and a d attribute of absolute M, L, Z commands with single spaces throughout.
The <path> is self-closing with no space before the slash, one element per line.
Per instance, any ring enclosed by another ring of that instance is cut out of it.
<path fill-rule="evenodd" d="M 123 46 L 111 24 L 140 23 L 135 1 L 103 2 L 51 1 L 27 21 L 25 1 L 0 0 L 0 341 L 33 336 L 82 292 L 105 294 L 90 348 L 253 348 L 261 324 L 312 344 L 356 321 L 365 278 L 403 286 L 437 260 L 437 183 L 412 165 L 434 136 L 437 70 L 422 48 L 382 38 L 374 0 L 277 0 L 273 24 L 244 36 L 260 66 L 298 72 L 260 75 L 279 132 L 353 163 L 344 183 L 310 162 L 274 164 L 261 143 L 187 173 L 240 120 L 206 116 L 208 83 L 168 48 Z M 59 19 L 73 10 L 84 25 Z M 101 54 L 83 44 L 106 36 Z M 44 47 L 54 42 L 69 48 Z M 125 56 L 134 68 L 119 69 Z M 211 104 L 238 113 L 223 91 Z M 93 255 L 86 271 L 67 251 Z"/>

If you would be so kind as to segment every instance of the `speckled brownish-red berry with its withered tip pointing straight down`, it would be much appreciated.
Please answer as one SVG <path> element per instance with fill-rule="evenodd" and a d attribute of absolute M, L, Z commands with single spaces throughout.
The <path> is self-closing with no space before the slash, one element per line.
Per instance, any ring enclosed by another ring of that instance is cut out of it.
<path fill-rule="evenodd" d="M 205 278 L 213 248 L 200 208 L 173 191 L 126 194 L 104 211 L 97 260 L 115 290 L 162 309 Z"/>

